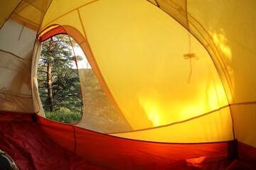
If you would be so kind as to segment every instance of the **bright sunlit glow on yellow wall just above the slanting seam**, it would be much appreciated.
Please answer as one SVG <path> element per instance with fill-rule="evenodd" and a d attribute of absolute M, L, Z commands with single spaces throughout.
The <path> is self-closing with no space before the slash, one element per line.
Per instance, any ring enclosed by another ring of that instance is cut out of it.
<path fill-rule="evenodd" d="M 148 94 L 138 96 L 138 99 L 153 127 L 194 118 L 227 104 L 222 84 L 213 81 L 206 88 L 205 96 L 195 101 L 186 101 L 186 106 L 183 108 L 178 108 L 182 106 L 182 101 L 176 101 L 171 105 L 169 102 L 163 101 L 163 96 L 152 89 Z"/>

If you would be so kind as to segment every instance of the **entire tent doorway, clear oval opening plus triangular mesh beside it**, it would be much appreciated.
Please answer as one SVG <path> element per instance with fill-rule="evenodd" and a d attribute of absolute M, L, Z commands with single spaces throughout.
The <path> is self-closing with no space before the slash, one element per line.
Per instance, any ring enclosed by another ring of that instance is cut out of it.
<path fill-rule="evenodd" d="M 68 35 L 42 42 L 38 91 L 50 120 L 79 122 L 81 128 L 102 133 L 132 131 L 105 94 L 80 46 Z"/>

